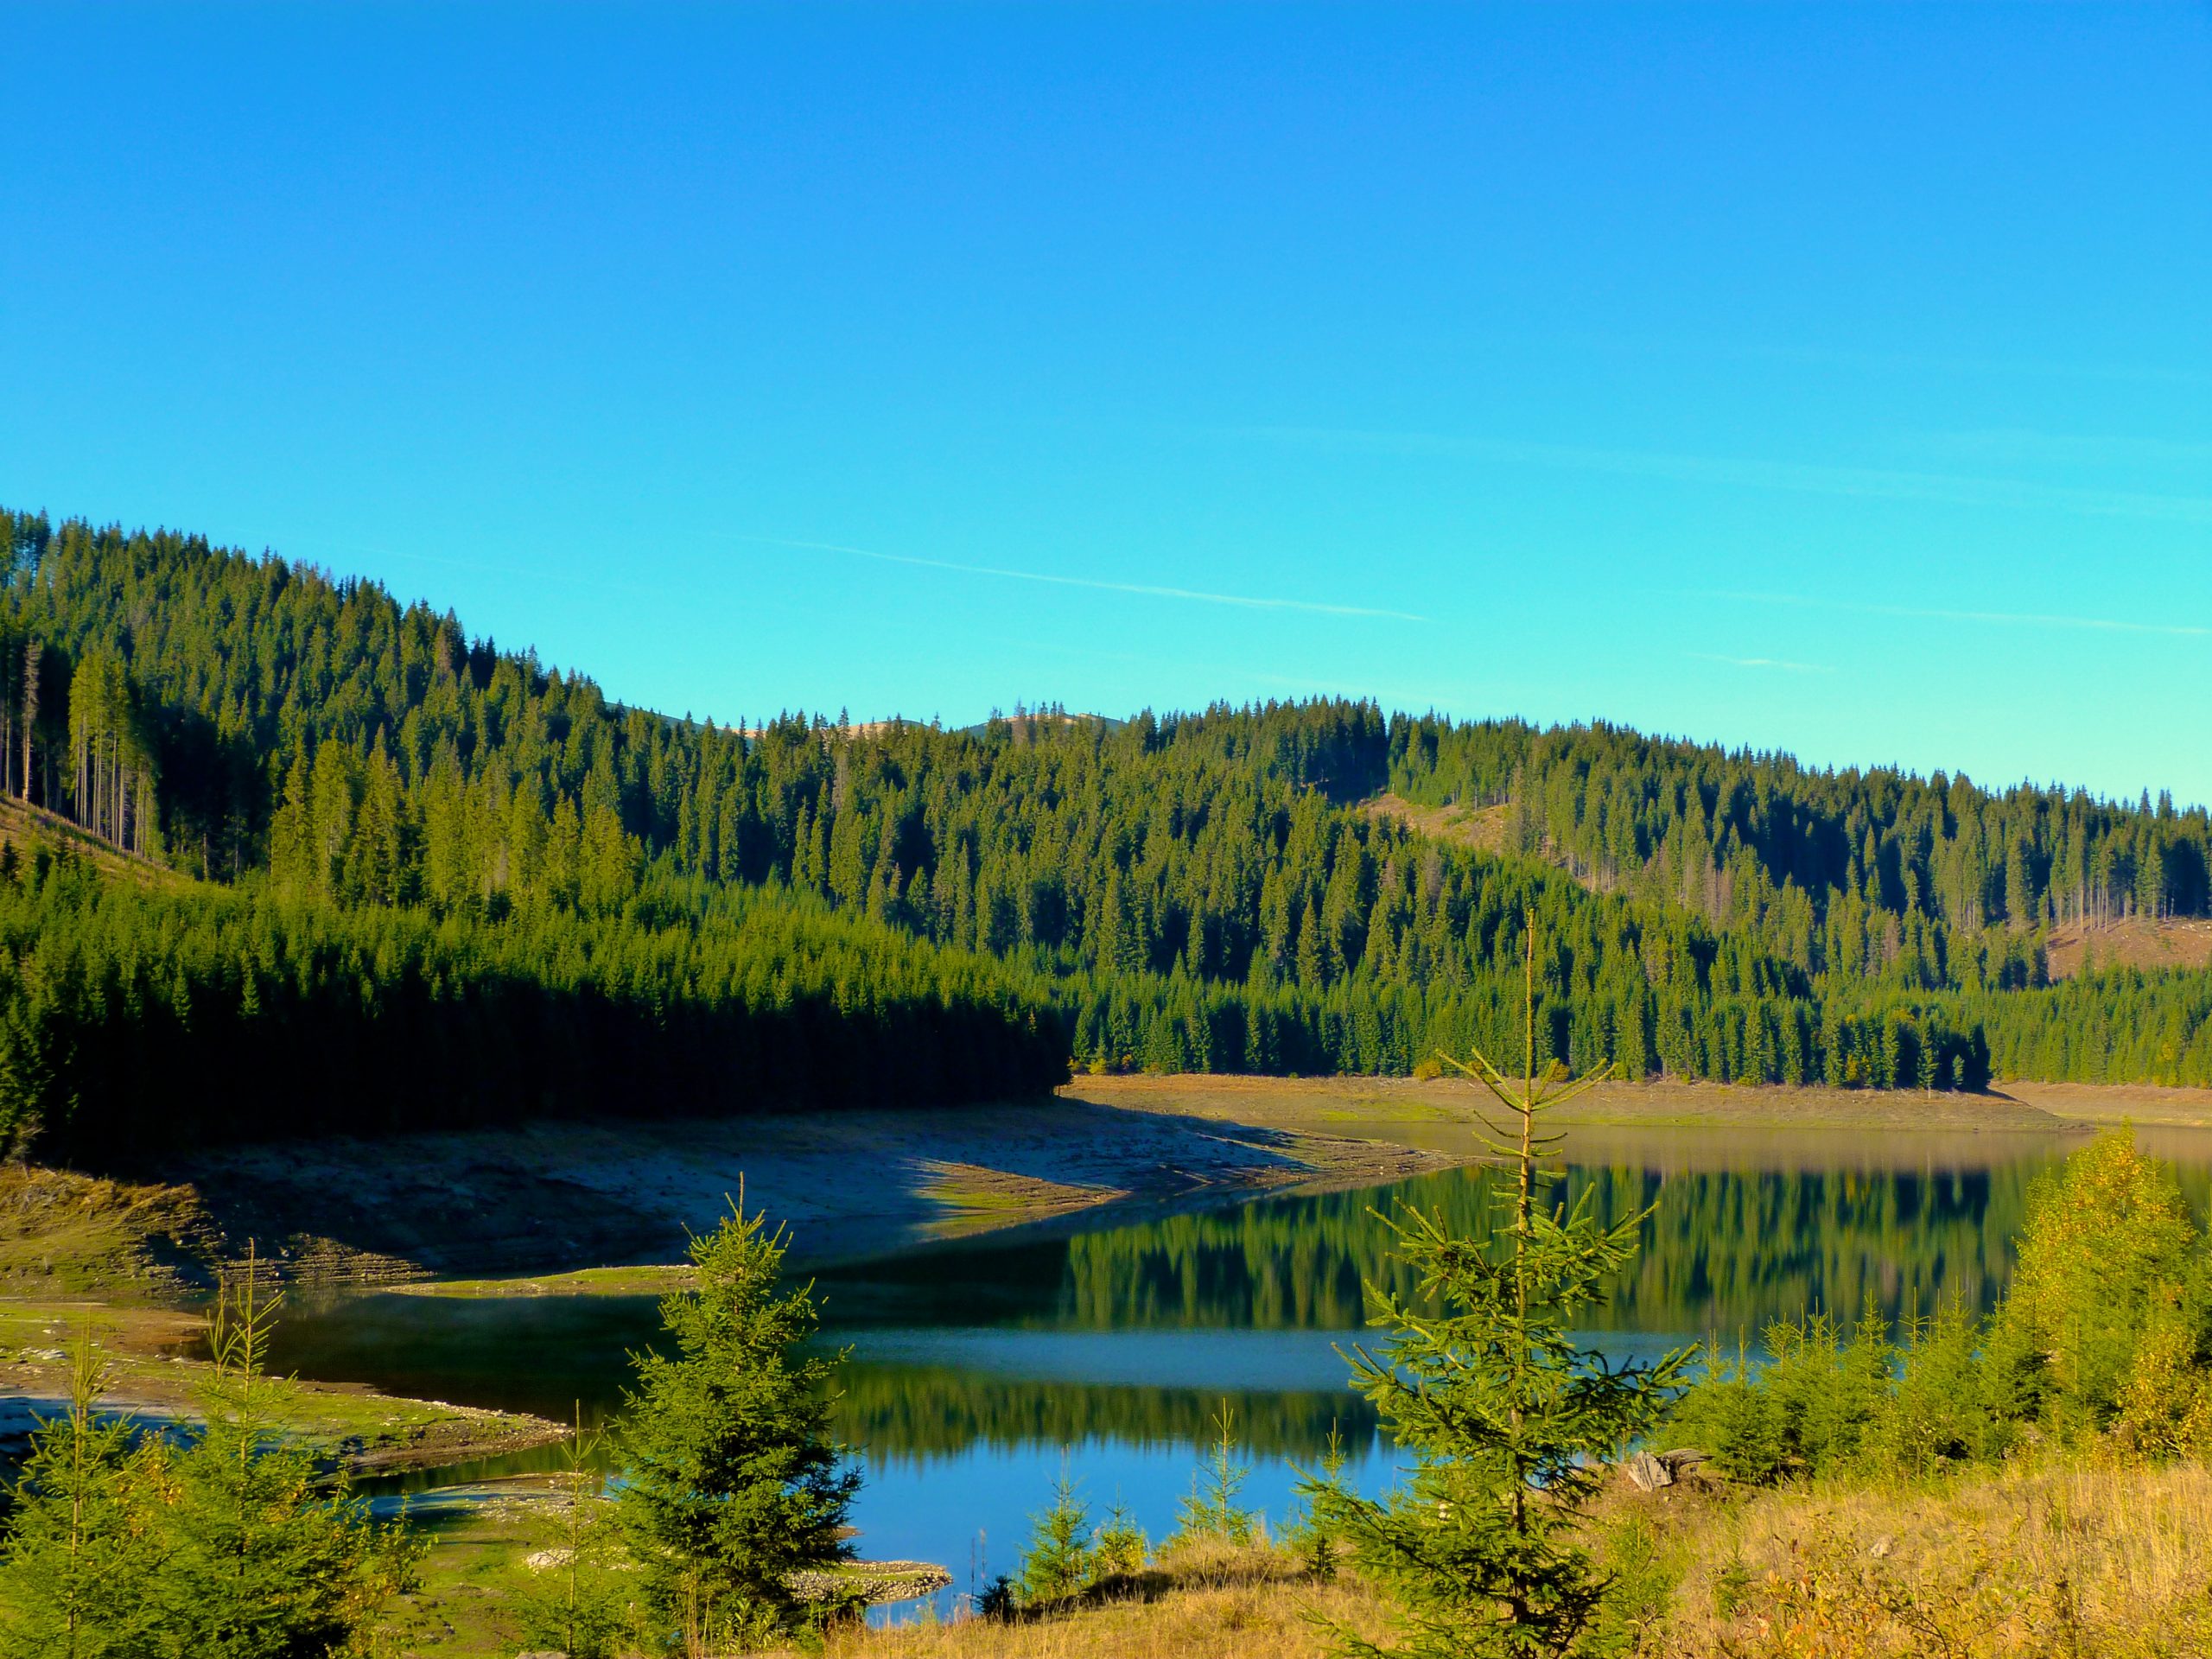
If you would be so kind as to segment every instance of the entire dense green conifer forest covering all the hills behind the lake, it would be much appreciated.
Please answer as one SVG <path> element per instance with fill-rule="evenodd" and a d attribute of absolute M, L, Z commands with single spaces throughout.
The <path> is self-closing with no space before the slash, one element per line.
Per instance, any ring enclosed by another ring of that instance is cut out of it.
<path fill-rule="evenodd" d="M 1405 1073 L 1517 1053 L 1531 914 L 1577 1064 L 2212 1082 L 2212 975 L 2048 984 L 2057 925 L 2212 909 L 2166 799 L 1356 701 L 717 726 L 272 555 L 0 546 L 0 790 L 168 872 L 0 856 L 11 1146 Z"/>

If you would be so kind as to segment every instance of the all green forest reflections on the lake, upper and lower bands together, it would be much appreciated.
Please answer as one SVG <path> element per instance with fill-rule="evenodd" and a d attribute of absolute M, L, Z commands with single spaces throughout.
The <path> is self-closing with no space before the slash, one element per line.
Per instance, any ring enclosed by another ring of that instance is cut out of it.
<path fill-rule="evenodd" d="M 1666 1172 L 1628 1157 L 1573 1166 L 1555 1197 L 1577 1203 L 1588 1194 L 1608 1221 L 1652 1210 L 1644 1252 L 1613 1303 L 1588 1321 L 1593 1329 L 1756 1340 L 1772 1318 L 1807 1307 L 1854 1314 L 1867 1296 L 1891 1316 L 1927 1312 L 1953 1294 L 1986 1307 L 2011 1272 L 2031 1188 L 2064 1146 L 2008 1152 L 1922 1168 L 1730 1170 L 1697 1161 Z M 1077 1343 L 1141 1329 L 1352 1332 L 1363 1321 L 1363 1281 L 1411 1294 L 1374 1210 L 1402 1199 L 1473 1232 L 1502 1179 L 1462 1168 L 1383 1192 L 1259 1199 L 1073 1239 L 925 1252 L 825 1276 L 825 1292 L 854 1327 L 878 1318 L 922 1329 L 1015 1327 L 1068 1332 Z M 2181 1181 L 2201 1210 L 2212 1175 L 2192 1168 Z M 978 1440 L 1194 1444 L 1221 1398 L 863 1356 L 843 1371 L 838 1418 L 841 1433 L 876 1458 L 951 1455 Z M 1314 1391 L 1303 1376 L 1294 1389 L 1245 1387 L 1228 1398 L 1259 1455 L 1312 1458 L 1332 1422 L 1354 1444 L 1376 1429 L 1365 1400 Z"/>

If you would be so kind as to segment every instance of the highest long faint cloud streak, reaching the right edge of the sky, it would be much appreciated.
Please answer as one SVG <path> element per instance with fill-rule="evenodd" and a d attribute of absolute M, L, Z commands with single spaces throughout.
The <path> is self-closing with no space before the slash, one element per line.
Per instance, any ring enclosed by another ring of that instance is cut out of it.
<path fill-rule="evenodd" d="M 1601 449 L 1590 445 L 1526 442 L 1513 438 L 1469 438 L 1440 431 L 1374 431 L 1352 427 L 1225 427 L 1223 438 L 1310 445 L 1316 449 L 1365 449 L 1407 456 L 1467 456 L 1515 467 L 1559 467 L 1566 471 L 1663 478 L 1686 484 L 1741 489 L 1785 489 L 1812 495 L 1856 495 L 1874 500 L 1922 500 L 1955 507 L 2004 507 L 2020 511 L 2090 513 L 2099 518 L 2148 518 L 2168 524 L 2212 524 L 2212 495 L 2159 495 L 2121 489 L 2073 489 L 2028 484 L 2011 478 L 1900 471 L 1889 467 L 1827 467 L 1747 456 L 1683 456 L 1659 449 Z"/>

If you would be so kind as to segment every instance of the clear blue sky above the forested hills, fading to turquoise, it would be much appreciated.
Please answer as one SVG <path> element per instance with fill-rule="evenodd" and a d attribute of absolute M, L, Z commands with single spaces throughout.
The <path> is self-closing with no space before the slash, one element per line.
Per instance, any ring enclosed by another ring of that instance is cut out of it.
<path fill-rule="evenodd" d="M 0 11 L 0 500 L 670 712 L 2212 799 L 2212 9 Z"/>

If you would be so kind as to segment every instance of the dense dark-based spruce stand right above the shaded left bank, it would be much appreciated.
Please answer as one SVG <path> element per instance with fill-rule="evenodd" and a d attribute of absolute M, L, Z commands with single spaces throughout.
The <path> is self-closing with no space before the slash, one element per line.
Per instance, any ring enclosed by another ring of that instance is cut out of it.
<path fill-rule="evenodd" d="M 0 856 L 0 1155 L 940 1104 L 1066 1077 L 1051 1004 L 790 894 L 487 925 Z"/>

